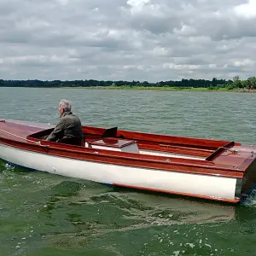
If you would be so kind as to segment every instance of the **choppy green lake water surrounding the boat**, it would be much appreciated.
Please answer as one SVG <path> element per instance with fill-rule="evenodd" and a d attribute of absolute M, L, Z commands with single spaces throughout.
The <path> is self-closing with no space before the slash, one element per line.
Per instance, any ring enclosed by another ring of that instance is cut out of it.
<path fill-rule="evenodd" d="M 0 88 L 0 118 L 256 144 L 256 94 Z M 233 207 L 27 172 L 0 160 L 0 255 L 256 255 L 256 203 Z"/>

